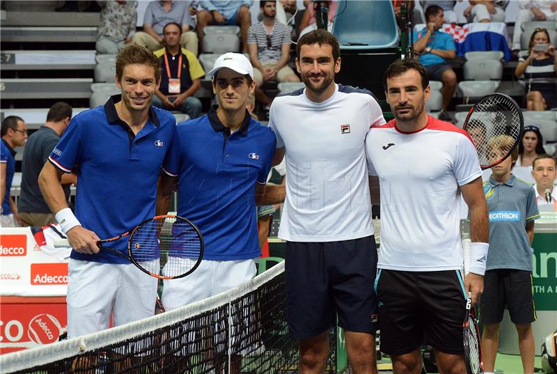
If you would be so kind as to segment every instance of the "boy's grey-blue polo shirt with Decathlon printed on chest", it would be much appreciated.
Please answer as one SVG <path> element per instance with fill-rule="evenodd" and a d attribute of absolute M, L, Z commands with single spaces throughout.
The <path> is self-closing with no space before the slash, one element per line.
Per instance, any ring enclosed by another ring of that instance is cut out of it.
<path fill-rule="evenodd" d="M 534 250 L 526 224 L 540 218 L 533 187 L 511 174 L 503 183 L 491 176 L 483 188 L 489 210 L 486 269 L 532 271 Z"/>

